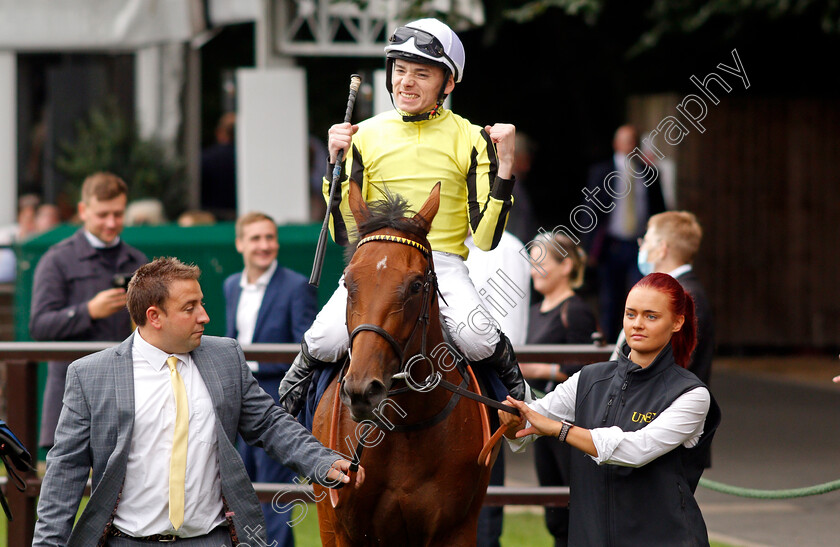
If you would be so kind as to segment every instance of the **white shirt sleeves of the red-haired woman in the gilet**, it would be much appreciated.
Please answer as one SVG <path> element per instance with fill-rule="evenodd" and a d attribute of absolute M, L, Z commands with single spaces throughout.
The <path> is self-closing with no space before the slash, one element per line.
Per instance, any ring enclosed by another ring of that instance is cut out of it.
<path fill-rule="evenodd" d="M 574 422 L 578 380 L 579 372 L 528 406 L 553 420 Z M 696 387 L 677 397 L 671 406 L 638 431 L 625 432 L 618 426 L 590 429 L 598 455 L 589 457 L 598 465 L 641 467 L 681 444 L 691 448 L 703 434 L 710 404 L 709 390 Z M 536 437 L 508 439 L 508 443 L 514 452 L 519 452 Z"/>

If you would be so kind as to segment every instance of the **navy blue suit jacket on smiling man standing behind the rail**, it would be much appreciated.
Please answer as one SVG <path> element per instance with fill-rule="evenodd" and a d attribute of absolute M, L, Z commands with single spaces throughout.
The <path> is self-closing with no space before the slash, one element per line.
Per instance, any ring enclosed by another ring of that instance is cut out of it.
<path fill-rule="evenodd" d="M 236 338 L 236 308 L 242 288 L 239 281 L 242 272 L 235 273 L 225 280 L 225 317 L 227 330 L 225 335 Z M 312 325 L 318 311 L 318 294 L 315 287 L 301 274 L 278 266 L 268 286 L 265 288 L 257 324 L 254 328 L 254 344 L 285 344 L 303 340 L 303 333 Z M 260 362 L 259 371 L 254 377 L 272 396 L 277 398 L 277 390 L 270 391 L 264 385 L 266 380 L 282 379 L 289 370 L 288 363 Z"/>

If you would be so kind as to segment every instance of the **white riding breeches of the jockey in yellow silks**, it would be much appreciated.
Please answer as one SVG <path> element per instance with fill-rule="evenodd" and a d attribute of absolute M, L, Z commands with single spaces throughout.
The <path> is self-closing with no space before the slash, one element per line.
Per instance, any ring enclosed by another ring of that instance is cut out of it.
<path fill-rule="evenodd" d="M 482 304 L 464 259 L 438 251 L 433 251 L 432 255 L 443 295 L 438 304 L 447 330 L 470 361 L 490 357 L 500 340 L 499 325 Z M 345 323 L 346 312 L 347 289 L 342 275 L 338 288 L 303 337 L 315 359 L 336 362 L 347 354 L 350 336 Z"/>

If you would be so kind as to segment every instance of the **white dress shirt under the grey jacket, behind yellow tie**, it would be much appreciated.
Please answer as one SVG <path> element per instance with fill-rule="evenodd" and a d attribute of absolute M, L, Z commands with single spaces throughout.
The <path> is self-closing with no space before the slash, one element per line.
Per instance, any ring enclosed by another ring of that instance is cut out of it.
<path fill-rule="evenodd" d="M 169 355 L 143 340 L 139 329 L 135 331 L 134 433 L 114 515 L 114 526 L 135 537 L 201 536 L 225 520 L 213 401 L 192 357 L 176 354 L 187 390 L 190 426 L 184 524 L 176 532 L 169 522 L 169 460 L 175 431 L 175 396 L 166 364 Z"/>

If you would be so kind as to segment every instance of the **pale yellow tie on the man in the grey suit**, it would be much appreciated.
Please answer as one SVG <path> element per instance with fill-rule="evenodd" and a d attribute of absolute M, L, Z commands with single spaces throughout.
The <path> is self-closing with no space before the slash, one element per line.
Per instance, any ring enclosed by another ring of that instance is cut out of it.
<path fill-rule="evenodd" d="M 169 521 L 177 530 L 184 524 L 184 482 L 187 475 L 187 439 L 190 430 L 190 412 L 187 389 L 178 374 L 178 358 L 170 355 L 169 379 L 175 395 L 175 435 L 172 438 L 172 458 L 169 460 Z"/>

